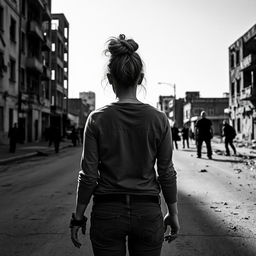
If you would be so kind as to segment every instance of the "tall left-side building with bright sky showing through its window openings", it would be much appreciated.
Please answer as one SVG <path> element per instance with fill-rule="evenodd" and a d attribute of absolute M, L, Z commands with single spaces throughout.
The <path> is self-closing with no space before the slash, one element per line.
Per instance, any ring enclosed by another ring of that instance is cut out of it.
<path fill-rule="evenodd" d="M 64 14 L 52 14 L 51 123 L 65 133 L 68 121 L 69 23 Z"/>

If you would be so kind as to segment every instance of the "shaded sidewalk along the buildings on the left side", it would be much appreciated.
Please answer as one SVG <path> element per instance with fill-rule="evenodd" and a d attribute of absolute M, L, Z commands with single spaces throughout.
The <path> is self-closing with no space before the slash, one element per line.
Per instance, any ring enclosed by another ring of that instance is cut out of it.
<path fill-rule="evenodd" d="M 71 140 L 64 139 L 60 143 L 60 150 L 63 148 L 72 147 Z M 16 160 L 33 157 L 39 154 L 55 153 L 54 145 L 48 146 L 48 141 L 33 142 L 16 145 L 16 152 L 9 152 L 9 145 L 0 145 L 0 165 L 7 164 Z"/>

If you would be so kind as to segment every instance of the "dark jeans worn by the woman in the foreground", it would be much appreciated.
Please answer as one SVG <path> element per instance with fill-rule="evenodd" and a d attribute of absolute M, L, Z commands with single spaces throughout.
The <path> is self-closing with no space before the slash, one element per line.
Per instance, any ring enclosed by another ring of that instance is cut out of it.
<path fill-rule="evenodd" d="M 95 256 L 160 256 L 163 215 L 154 202 L 97 202 L 91 213 L 90 239 Z"/>

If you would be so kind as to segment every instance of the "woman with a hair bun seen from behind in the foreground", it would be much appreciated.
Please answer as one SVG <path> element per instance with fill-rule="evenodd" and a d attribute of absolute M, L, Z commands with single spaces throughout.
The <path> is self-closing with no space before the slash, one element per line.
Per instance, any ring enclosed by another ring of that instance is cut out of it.
<path fill-rule="evenodd" d="M 85 234 L 84 212 L 93 195 L 90 239 L 96 256 L 125 256 L 126 239 L 130 256 L 159 256 L 164 225 L 171 227 L 169 241 L 179 231 L 171 129 L 164 113 L 136 97 L 144 76 L 137 49 L 124 35 L 109 40 L 107 78 L 117 101 L 93 111 L 84 130 L 71 239 L 81 246 L 78 231 Z M 164 219 L 160 188 L 168 209 Z"/>

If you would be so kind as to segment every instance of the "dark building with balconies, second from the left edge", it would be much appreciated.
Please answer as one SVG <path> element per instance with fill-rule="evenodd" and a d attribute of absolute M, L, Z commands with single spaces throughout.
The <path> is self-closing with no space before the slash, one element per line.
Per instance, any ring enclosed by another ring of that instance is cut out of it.
<path fill-rule="evenodd" d="M 51 0 L 22 0 L 20 13 L 19 130 L 38 141 L 50 125 Z"/>

